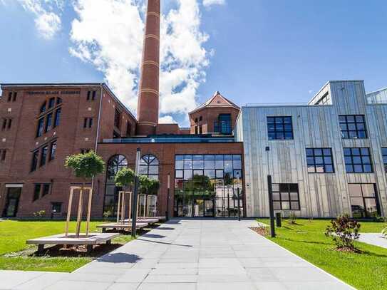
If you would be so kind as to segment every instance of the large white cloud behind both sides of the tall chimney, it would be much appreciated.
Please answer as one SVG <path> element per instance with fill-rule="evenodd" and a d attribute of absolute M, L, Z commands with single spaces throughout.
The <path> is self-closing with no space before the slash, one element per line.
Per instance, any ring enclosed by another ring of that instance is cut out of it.
<path fill-rule="evenodd" d="M 187 113 L 205 81 L 209 65 L 200 31 L 199 0 L 173 0 L 176 9 L 161 18 L 160 114 Z M 144 0 L 76 0 L 70 53 L 93 63 L 109 86 L 130 107 L 137 108 L 139 67 L 143 48 Z M 165 120 L 165 119 L 163 119 Z"/>

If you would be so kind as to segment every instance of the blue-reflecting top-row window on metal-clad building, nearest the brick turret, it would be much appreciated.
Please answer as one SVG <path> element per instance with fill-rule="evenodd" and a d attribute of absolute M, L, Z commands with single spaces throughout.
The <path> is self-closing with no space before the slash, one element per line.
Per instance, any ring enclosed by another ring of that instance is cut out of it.
<path fill-rule="evenodd" d="M 269 140 L 293 139 L 291 117 L 267 117 L 267 135 Z"/>

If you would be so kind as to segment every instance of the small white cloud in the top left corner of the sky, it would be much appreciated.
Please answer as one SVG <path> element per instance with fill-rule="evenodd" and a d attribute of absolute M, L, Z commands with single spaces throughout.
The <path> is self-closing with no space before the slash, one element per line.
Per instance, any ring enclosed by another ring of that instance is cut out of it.
<path fill-rule="evenodd" d="M 24 10 L 35 16 L 35 26 L 38 33 L 46 39 L 51 39 L 61 30 L 61 11 L 63 0 L 17 0 Z"/>

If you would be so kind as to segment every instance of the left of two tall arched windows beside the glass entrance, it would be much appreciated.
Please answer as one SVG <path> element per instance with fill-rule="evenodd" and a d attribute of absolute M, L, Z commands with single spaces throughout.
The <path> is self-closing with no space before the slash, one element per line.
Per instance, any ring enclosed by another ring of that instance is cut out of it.
<path fill-rule="evenodd" d="M 110 216 L 116 215 L 118 190 L 120 189 L 115 186 L 114 177 L 117 172 L 124 167 L 128 167 L 128 160 L 126 160 L 124 155 L 114 155 L 113 157 L 110 157 L 106 170 L 105 199 L 103 202 L 104 214 Z"/>

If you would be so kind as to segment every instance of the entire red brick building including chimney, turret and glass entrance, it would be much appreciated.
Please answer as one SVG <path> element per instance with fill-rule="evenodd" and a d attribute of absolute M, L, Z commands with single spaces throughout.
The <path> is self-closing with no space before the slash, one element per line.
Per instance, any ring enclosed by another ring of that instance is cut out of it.
<path fill-rule="evenodd" d="M 232 136 L 239 107 L 215 93 L 190 113 L 190 129 L 158 124 L 159 42 L 160 0 L 149 0 L 138 118 L 104 83 L 1 85 L 1 216 L 44 210 L 46 217 L 65 217 L 70 186 L 81 180 L 64 160 L 87 150 L 107 165 L 90 180 L 92 216 L 114 215 L 119 189 L 113 176 L 134 167 L 138 147 L 140 173 L 160 180 L 157 202 L 148 201 L 146 214 L 228 217 L 237 214 L 238 203 L 243 211 L 243 147 Z"/>

